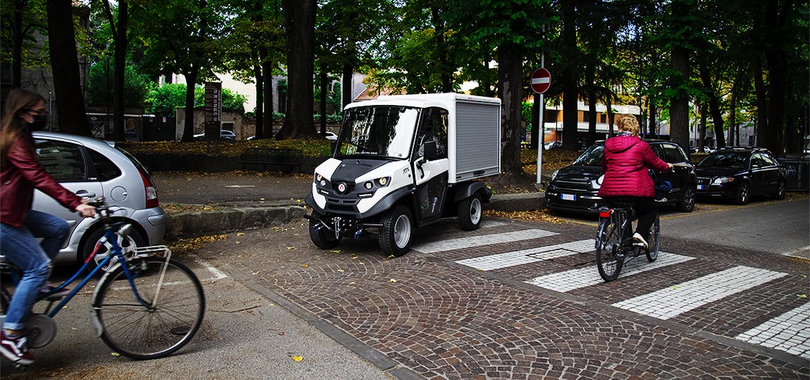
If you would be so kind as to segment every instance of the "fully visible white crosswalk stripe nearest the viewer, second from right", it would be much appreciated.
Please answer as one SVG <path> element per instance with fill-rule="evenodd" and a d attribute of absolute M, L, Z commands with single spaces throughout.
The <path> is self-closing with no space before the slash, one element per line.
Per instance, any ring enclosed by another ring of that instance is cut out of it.
<path fill-rule="evenodd" d="M 658 319 L 670 319 L 720 298 L 784 276 L 787 276 L 787 273 L 760 268 L 728 268 L 653 293 L 616 302 L 613 306 Z"/>

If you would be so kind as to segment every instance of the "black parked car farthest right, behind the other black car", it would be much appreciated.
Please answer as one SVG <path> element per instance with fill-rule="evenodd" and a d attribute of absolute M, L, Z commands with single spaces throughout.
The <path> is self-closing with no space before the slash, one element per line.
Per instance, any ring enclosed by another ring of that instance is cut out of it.
<path fill-rule="evenodd" d="M 727 148 L 703 158 L 695 167 L 697 196 L 726 198 L 746 205 L 752 196 L 784 199 L 787 171 L 768 150 Z"/>

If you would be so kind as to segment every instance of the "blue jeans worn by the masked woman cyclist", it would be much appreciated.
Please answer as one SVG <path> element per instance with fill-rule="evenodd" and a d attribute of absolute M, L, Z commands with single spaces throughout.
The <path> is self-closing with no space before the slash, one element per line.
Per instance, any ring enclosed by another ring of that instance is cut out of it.
<path fill-rule="evenodd" d="M 0 253 L 23 271 L 2 327 L 7 330 L 22 330 L 28 313 L 48 280 L 51 259 L 65 243 L 70 226 L 60 217 L 49 213 L 28 210 L 19 227 L 0 223 Z M 36 241 L 42 239 L 42 243 Z"/>

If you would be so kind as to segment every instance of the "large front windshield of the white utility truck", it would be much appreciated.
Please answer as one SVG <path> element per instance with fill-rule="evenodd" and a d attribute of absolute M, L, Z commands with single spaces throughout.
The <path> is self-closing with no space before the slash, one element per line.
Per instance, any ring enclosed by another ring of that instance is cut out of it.
<path fill-rule="evenodd" d="M 411 154 L 416 120 L 419 120 L 419 108 L 349 108 L 343 116 L 337 155 L 407 158 Z"/>

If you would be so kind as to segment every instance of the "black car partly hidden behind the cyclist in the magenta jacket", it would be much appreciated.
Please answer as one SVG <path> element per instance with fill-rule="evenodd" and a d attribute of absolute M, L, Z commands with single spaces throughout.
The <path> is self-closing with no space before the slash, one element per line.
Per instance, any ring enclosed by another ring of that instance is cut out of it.
<path fill-rule="evenodd" d="M 697 178 L 689 156 L 683 148 L 671 141 L 644 140 L 653 152 L 667 163 L 675 166 L 674 171 L 657 173 L 659 179 L 669 181 L 672 189 L 667 203 L 674 203 L 677 209 L 691 213 L 695 208 L 695 188 Z M 546 205 L 555 211 L 597 213 L 597 209 L 607 205 L 598 196 L 602 186 L 602 155 L 605 141 L 596 141 L 568 167 L 555 171 L 546 188 Z"/>

